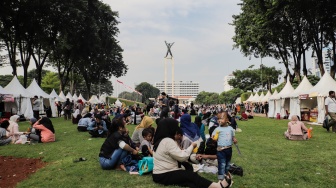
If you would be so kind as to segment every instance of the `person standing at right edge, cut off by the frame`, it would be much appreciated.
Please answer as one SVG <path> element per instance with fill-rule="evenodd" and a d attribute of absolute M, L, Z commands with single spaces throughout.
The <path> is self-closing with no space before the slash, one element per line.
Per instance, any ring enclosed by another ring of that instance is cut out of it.
<path fill-rule="evenodd" d="M 332 132 L 336 132 L 336 99 L 335 91 L 329 91 L 329 96 L 324 100 L 325 115 L 329 115 L 331 120 L 329 121 L 326 129 L 329 132 L 332 127 Z"/>

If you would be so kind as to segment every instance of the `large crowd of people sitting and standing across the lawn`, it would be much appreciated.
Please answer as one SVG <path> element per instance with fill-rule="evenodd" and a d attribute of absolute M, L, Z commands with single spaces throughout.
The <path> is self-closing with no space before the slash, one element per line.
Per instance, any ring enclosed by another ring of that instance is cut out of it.
<path fill-rule="evenodd" d="M 247 104 L 243 112 L 240 112 L 241 105 L 182 107 L 178 102 L 171 103 L 165 93 L 161 95 L 162 100 L 158 104 L 150 103 L 144 107 L 114 106 L 110 110 L 99 110 L 98 106 L 88 108 L 81 100 L 74 103 L 67 99 L 65 103 L 57 104 L 61 106 L 58 109 L 63 111 L 65 120 L 71 118 L 79 132 L 105 139 L 98 154 L 99 164 L 104 170 L 134 172 L 139 170 L 134 165 L 137 163 L 125 161 L 131 159 L 137 162 L 142 157 L 152 157 L 152 177 L 156 183 L 187 187 L 229 187 L 233 183 L 229 167 L 232 146 L 237 143 L 237 121 L 251 119 L 253 112 L 261 112 L 255 109 L 267 111 L 267 106 L 251 108 Z M 196 115 L 194 122 L 191 115 Z M 14 115 L 10 120 L 1 122 L 0 145 L 22 142 L 22 135 L 36 142 L 55 141 L 55 130 L 49 118 L 31 118 L 31 126 L 26 132 L 19 132 L 18 119 L 19 116 Z M 136 125 L 132 135 L 127 129 L 128 124 Z M 304 140 L 307 139 L 307 130 L 299 118 L 293 116 L 284 135 L 290 140 Z M 195 173 L 199 170 L 195 167 L 200 166 L 209 167 L 208 172 L 217 173 L 219 181 L 211 182 Z"/>

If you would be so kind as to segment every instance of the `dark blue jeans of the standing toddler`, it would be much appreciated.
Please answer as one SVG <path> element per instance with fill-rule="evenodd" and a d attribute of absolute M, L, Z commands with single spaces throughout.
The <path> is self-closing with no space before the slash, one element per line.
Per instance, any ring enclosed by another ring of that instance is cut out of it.
<path fill-rule="evenodd" d="M 219 180 L 223 180 L 224 175 L 229 172 L 231 157 L 232 157 L 232 148 L 217 151 Z"/>

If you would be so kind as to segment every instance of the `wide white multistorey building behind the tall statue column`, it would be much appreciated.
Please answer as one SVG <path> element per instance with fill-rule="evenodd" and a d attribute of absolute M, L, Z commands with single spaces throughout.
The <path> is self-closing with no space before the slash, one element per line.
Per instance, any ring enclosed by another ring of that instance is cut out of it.
<path fill-rule="evenodd" d="M 156 82 L 154 84 L 156 88 L 158 88 L 161 92 L 165 91 L 165 83 L 164 81 L 162 82 Z M 169 96 L 172 96 L 172 83 L 167 82 L 167 92 Z M 188 81 L 188 82 L 183 82 L 183 81 L 177 81 L 174 82 L 174 96 L 192 96 L 196 97 L 199 93 L 199 83 L 198 82 L 193 82 L 193 81 Z M 173 96 L 173 97 L 174 97 Z"/>

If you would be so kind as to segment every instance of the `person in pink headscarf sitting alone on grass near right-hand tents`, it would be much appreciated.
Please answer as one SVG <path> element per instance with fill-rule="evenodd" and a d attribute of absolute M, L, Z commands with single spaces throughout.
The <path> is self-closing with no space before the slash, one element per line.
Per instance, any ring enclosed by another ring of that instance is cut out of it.
<path fill-rule="evenodd" d="M 285 137 L 289 140 L 307 140 L 307 127 L 301 122 L 297 116 L 292 116 L 292 120 L 288 122 L 288 130 Z"/>

